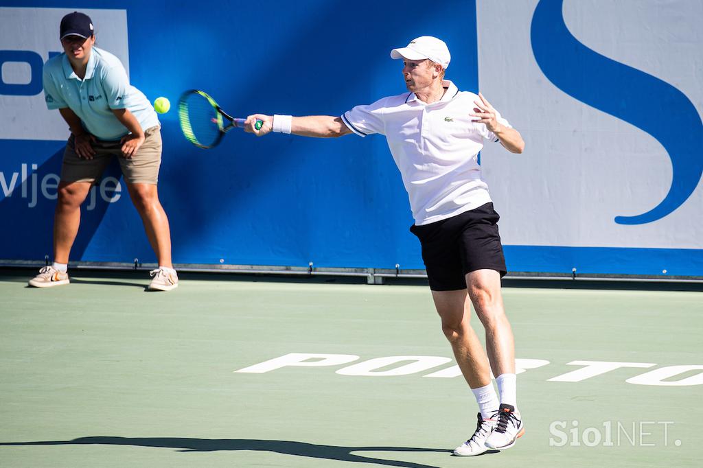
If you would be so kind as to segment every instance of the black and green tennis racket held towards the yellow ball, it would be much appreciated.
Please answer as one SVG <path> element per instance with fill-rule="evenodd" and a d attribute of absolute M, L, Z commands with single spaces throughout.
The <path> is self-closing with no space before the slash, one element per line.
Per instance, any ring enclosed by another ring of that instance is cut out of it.
<path fill-rule="evenodd" d="M 245 119 L 231 117 L 204 91 L 191 89 L 181 95 L 178 115 L 183 136 L 198 148 L 214 148 L 231 129 L 243 129 Z M 224 117 L 229 121 L 224 124 Z M 254 127 L 262 128 L 261 120 Z"/>

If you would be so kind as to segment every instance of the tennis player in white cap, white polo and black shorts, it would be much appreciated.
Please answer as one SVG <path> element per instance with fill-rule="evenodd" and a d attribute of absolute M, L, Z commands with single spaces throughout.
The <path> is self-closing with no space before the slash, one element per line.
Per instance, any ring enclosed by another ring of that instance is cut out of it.
<path fill-rule="evenodd" d="M 444 41 L 418 37 L 394 48 L 409 92 L 359 105 L 340 117 L 250 115 L 246 130 L 318 138 L 382 134 L 400 169 L 422 245 L 430 290 L 444 334 L 479 405 L 477 428 L 454 450 L 479 455 L 503 450 L 524 433 L 517 410 L 515 346 L 501 298 L 505 275 L 498 213 L 477 157 L 485 141 L 520 153 L 524 141 L 479 93 L 459 91 L 444 73 L 451 56 Z M 254 122 L 264 122 L 261 129 Z M 482 348 L 469 323 L 470 304 L 486 331 Z M 498 395 L 491 383 L 497 375 Z"/>

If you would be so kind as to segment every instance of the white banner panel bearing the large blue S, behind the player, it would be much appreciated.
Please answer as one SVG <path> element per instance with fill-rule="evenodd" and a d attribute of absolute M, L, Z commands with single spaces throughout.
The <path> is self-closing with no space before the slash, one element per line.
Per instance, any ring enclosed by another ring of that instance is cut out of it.
<path fill-rule="evenodd" d="M 660 89 L 673 86 L 682 100 L 690 101 L 697 124 L 690 119 L 690 125 L 669 131 L 667 125 L 680 108 L 660 112 L 660 96 L 642 94 L 640 102 L 651 103 L 652 113 L 640 112 L 636 117 L 651 122 L 661 133 L 644 131 L 641 122 L 636 126 L 630 123 L 633 119 L 614 117 L 583 102 L 588 93 L 598 100 L 598 90 L 579 93 L 579 89 L 587 90 L 610 68 L 587 68 L 590 62 L 576 60 L 577 52 L 574 56 L 537 53 L 534 34 L 543 44 L 548 44 L 545 38 L 550 34 L 555 34 L 554 44 L 564 41 L 553 32 L 557 29 L 553 21 L 546 23 L 544 31 L 531 31 L 533 21 L 539 19 L 534 18 L 537 5 L 536 0 L 477 0 L 480 90 L 527 143 L 522 155 L 510 155 L 497 144 L 487 145 L 482 152 L 484 177 L 502 216 L 503 242 L 703 248 L 703 184 L 700 166 L 695 165 L 703 149 L 698 147 L 695 156 L 688 152 L 681 157 L 668 151 L 659 136 L 686 136 L 694 130 L 700 134 L 703 2 L 565 0 L 560 8 L 569 33 L 581 43 L 574 42 L 574 51 L 585 46 L 583 50 L 595 52 L 595 62 L 608 62 L 605 65 L 613 69 L 636 69 L 632 73 L 642 77 L 643 83 Z M 560 2 L 546 0 L 540 8 L 546 11 L 555 5 Z M 543 46 L 543 51 L 549 47 Z M 578 76 L 573 86 L 564 86 L 543 72 L 559 67 L 565 70 L 564 77 Z M 633 81 L 632 86 L 640 85 Z M 628 103 L 615 101 L 614 108 L 621 105 L 627 112 Z M 659 219 L 617 222 L 619 216 L 627 219 L 644 214 L 662 203 L 672 187 L 674 161 L 678 176 L 673 186 L 690 195 L 664 216 L 659 210 Z"/>

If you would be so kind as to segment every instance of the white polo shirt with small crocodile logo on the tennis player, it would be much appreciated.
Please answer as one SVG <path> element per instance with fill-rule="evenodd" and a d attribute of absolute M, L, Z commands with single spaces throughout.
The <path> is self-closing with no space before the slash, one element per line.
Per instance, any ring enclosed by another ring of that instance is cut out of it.
<path fill-rule="evenodd" d="M 478 153 L 484 140 L 498 141 L 485 124 L 472 122 L 479 96 L 444 80 L 444 96 L 426 104 L 403 93 L 357 105 L 342 121 L 359 136 L 385 135 L 408 190 L 417 226 L 451 218 L 491 201 Z M 498 122 L 510 127 L 498 115 Z"/>

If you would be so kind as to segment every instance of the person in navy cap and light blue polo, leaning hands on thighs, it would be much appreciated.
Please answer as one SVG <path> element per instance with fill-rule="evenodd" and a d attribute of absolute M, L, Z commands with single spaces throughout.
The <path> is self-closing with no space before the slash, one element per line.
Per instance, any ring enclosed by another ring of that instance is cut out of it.
<path fill-rule="evenodd" d="M 44 65 L 44 98 L 71 131 L 63 154 L 53 224 L 53 264 L 41 268 L 30 286 L 69 283 L 68 256 L 78 233 L 80 206 L 112 157 L 122 167 L 134 207 L 159 266 L 148 289 L 178 286 L 171 263 L 169 221 L 157 193 L 161 164 L 159 119 L 146 96 L 129 84 L 120 60 L 95 47 L 93 22 L 83 13 L 65 15 L 60 25 L 64 53 Z"/>

